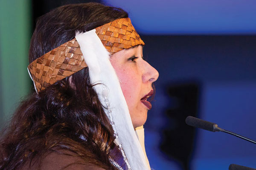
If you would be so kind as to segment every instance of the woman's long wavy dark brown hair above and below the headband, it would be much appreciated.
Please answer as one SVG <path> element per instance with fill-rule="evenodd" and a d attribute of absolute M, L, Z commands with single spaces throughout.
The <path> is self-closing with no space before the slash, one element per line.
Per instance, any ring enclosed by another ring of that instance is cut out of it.
<path fill-rule="evenodd" d="M 29 62 L 89 31 L 128 17 L 120 8 L 99 3 L 65 5 L 38 18 Z M 113 169 L 108 161 L 113 130 L 90 84 L 88 68 L 30 94 L 15 111 L 0 141 L 0 170 L 21 169 L 49 152 L 68 150 L 85 164 Z M 65 154 L 65 153 L 63 153 Z"/>

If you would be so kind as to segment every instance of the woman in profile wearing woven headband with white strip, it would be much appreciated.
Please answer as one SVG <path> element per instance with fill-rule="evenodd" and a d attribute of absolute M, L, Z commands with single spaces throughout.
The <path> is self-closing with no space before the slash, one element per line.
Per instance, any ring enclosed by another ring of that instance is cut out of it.
<path fill-rule="evenodd" d="M 0 169 L 149 169 L 134 129 L 158 72 L 143 45 L 120 8 L 74 4 L 40 17 L 28 67 L 36 92 L 4 134 Z"/>

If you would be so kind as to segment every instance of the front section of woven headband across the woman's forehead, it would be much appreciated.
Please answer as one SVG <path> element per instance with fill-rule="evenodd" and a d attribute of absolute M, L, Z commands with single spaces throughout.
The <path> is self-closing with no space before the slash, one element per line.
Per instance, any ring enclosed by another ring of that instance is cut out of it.
<path fill-rule="evenodd" d="M 145 45 L 132 26 L 130 18 L 117 19 L 95 29 L 102 44 L 110 53 L 135 45 Z"/>

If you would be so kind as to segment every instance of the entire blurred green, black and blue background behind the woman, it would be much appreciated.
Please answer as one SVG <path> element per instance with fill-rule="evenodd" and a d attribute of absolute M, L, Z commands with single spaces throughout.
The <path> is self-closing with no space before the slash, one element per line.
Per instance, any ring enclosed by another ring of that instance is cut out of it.
<path fill-rule="evenodd" d="M 39 16 L 68 3 L 99 2 L 128 11 L 157 68 L 157 93 L 145 124 L 155 170 L 256 168 L 254 144 L 185 124 L 192 115 L 256 140 L 254 0 L 3 0 L 0 2 L 0 125 L 33 89 L 29 40 Z"/>

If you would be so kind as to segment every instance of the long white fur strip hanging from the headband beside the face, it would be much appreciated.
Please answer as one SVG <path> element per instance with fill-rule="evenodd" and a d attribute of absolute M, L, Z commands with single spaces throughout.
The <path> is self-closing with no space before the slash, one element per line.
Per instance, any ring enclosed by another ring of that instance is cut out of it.
<path fill-rule="evenodd" d="M 79 42 L 84 61 L 89 68 L 89 76 L 93 88 L 98 94 L 110 122 L 114 122 L 114 131 L 118 134 L 118 141 L 122 145 L 128 163 L 132 170 L 148 170 L 148 164 L 143 149 L 134 131 L 128 106 L 118 77 L 109 61 L 110 54 L 97 36 L 95 29 L 85 33 L 77 33 L 76 40 Z M 100 83 L 100 84 L 97 84 Z M 97 85 L 96 85 L 97 84 Z M 107 91 L 106 91 L 107 90 Z M 108 103 L 105 98 L 107 97 Z"/>

